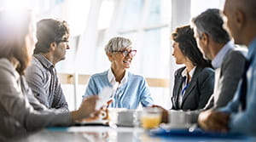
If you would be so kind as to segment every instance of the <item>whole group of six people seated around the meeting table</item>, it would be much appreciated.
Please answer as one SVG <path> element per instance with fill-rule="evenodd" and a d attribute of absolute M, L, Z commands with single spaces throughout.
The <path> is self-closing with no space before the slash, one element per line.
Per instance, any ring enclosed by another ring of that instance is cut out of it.
<path fill-rule="evenodd" d="M 171 109 L 191 114 L 191 122 L 203 129 L 256 134 L 254 5 L 253 0 L 226 0 L 223 14 L 207 9 L 191 26 L 172 33 L 172 55 L 185 66 L 175 72 Z M 34 43 L 29 11 L 1 11 L 0 31 L 0 139 L 96 116 L 96 95 L 106 87 L 113 88 L 108 107 L 156 106 L 145 79 L 127 70 L 137 54 L 128 38 L 110 39 L 105 47 L 110 68 L 90 77 L 79 110 L 68 111 L 55 70 L 69 49 L 67 22 L 38 21 Z M 237 48 L 230 36 L 248 51 Z"/>

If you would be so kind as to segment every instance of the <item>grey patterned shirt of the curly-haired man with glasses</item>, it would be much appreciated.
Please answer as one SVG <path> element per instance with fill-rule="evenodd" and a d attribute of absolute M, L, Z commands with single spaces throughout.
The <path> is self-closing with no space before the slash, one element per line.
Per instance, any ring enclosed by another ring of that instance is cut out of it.
<path fill-rule="evenodd" d="M 26 68 L 26 82 L 39 102 L 48 109 L 68 111 L 66 98 L 57 77 L 55 66 L 42 54 L 34 54 Z"/>

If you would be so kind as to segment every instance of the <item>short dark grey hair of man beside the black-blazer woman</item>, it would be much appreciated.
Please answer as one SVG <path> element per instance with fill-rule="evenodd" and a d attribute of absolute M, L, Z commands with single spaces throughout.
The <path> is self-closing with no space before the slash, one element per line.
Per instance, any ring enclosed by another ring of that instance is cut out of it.
<path fill-rule="evenodd" d="M 195 17 L 192 22 L 200 36 L 202 33 L 206 33 L 216 43 L 227 43 L 230 41 L 228 32 L 223 28 L 224 20 L 219 9 L 207 9 Z"/>

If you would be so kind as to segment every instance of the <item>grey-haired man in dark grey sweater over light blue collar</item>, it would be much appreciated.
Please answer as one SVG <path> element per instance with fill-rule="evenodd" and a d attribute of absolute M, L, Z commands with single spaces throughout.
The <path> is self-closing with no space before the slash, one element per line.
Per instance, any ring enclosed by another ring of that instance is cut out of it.
<path fill-rule="evenodd" d="M 207 105 L 200 111 L 190 111 L 192 123 L 197 122 L 201 111 L 217 109 L 233 99 L 244 71 L 247 50 L 236 48 L 224 30 L 222 14 L 218 9 L 207 9 L 193 20 L 198 47 L 215 70 L 214 92 Z"/>

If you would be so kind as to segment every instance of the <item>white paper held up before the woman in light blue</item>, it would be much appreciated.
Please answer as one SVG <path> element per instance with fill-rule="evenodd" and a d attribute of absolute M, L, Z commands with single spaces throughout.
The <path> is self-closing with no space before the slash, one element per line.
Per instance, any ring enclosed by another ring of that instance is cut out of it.
<path fill-rule="evenodd" d="M 100 110 L 101 107 L 107 103 L 107 101 L 110 99 L 111 95 L 113 93 L 113 88 L 103 88 L 102 92 L 98 94 L 99 99 L 96 102 L 96 110 Z"/>

